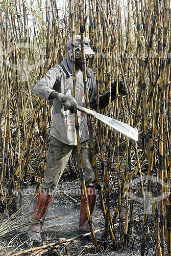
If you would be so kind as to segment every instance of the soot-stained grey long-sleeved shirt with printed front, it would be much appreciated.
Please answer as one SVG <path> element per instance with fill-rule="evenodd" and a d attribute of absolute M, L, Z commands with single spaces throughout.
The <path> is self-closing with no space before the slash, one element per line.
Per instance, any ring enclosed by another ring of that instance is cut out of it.
<path fill-rule="evenodd" d="M 96 102 L 96 83 L 90 68 L 87 71 L 87 88 L 90 105 Z M 43 99 L 48 99 L 54 91 L 73 96 L 72 62 L 65 59 L 58 66 L 50 69 L 46 75 L 34 86 L 33 92 Z M 77 103 L 85 106 L 83 74 L 76 74 Z M 87 116 L 78 111 L 80 140 L 84 142 L 89 139 Z M 69 110 L 64 111 L 58 99 L 53 100 L 53 119 L 50 135 L 68 145 L 77 145 L 75 116 Z"/>

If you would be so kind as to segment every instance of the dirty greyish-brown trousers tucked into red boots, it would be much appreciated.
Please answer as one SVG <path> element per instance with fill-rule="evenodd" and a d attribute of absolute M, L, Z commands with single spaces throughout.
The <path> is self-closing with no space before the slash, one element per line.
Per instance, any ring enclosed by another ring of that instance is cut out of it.
<path fill-rule="evenodd" d="M 83 170 L 85 175 L 86 186 L 95 186 L 95 175 L 92 167 L 91 149 L 89 140 L 81 143 Z M 70 155 L 76 158 L 77 165 L 80 166 L 77 146 L 67 145 L 50 136 L 50 144 L 48 147 L 48 158 L 44 172 L 44 180 L 41 190 L 47 194 L 53 194 Z"/>

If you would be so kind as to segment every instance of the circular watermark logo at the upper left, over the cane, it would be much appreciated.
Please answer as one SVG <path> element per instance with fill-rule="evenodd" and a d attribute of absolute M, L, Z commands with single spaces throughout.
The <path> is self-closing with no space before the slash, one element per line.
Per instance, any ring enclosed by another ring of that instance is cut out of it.
<path fill-rule="evenodd" d="M 9 60 L 10 54 L 13 54 L 14 51 L 16 52 L 16 63 L 14 59 L 13 61 Z M 11 46 L 3 52 L 3 55 L 6 56 L 3 59 L 5 65 L 17 70 L 21 81 L 28 81 L 28 72 L 40 67 L 45 61 L 41 48 L 24 42 Z"/>

